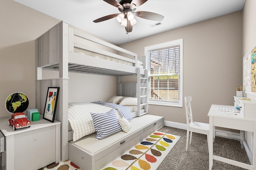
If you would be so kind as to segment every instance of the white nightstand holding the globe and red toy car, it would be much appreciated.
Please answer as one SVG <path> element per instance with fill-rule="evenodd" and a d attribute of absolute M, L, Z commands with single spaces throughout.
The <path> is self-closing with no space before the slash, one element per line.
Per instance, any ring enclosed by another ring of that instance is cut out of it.
<path fill-rule="evenodd" d="M 30 128 L 14 131 L 8 126 L 9 118 L 0 117 L 0 131 L 5 141 L 5 151 L 0 153 L 2 170 L 37 170 L 60 162 L 59 121 L 52 123 L 41 115 L 39 121 L 31 121 Z"/>

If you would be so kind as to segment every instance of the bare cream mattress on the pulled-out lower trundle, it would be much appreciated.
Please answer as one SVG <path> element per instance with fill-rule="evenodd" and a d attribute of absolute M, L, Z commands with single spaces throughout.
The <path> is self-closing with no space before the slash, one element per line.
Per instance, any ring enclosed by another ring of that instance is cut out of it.
<path fill-rule="evenodd" d="M 120 131 L 118 133 L 115 133 L 109 137 L 106 137 L 100 140 L 96 140 L 96 133 L 92 133 L 75 142 L 73 141 L 69 141 L 69 142 L 80 147 L 81 149 L 86 150 L 90 154 L 95 154 L 100 150 L 114 144 L 116 141 L 124 139 L 128 135 L 131 135 L 132 133 L 142 129 L 143 127 L 146 127 L 147 125 L 161 118 L 162 118 L 161 116 L 148 115 L 148 114 L 140 117 L 134 117 L 132 121 L 130 121 L 130 123 L 132 123 L 132 128 L 130 129 L 130 131 L 128 131 L 128 133 L 125 133 L 124 131 Z"/>

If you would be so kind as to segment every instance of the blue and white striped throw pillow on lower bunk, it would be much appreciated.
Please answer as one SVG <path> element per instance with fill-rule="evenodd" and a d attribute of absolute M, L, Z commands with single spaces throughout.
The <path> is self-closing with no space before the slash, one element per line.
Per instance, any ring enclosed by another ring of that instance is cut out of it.
<path fill-rule="evenodd" d="M 91 113 L 94 121 L 94 128 L 97 131 L 96 140 L 103 139 L 114 133 L 122 131 L 118 124 L 115 109 L 111 109 L 107 113 Z"/>

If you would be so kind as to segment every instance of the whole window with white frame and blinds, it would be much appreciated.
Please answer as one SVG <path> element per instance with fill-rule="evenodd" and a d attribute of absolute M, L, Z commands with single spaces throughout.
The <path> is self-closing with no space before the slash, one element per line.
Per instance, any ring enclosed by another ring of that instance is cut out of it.
<path fill-rule="evenodd" d="M 148 104 L 182 107 L 183 39 L 145 47 Z"/>

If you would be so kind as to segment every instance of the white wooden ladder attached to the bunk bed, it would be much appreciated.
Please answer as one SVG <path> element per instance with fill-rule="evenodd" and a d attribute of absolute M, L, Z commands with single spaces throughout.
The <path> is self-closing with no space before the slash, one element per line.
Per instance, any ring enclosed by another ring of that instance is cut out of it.
<path fill-rule="evenodd" d="M 136 97 L 138 99 L 137 111 L 138 116 L 148 113 L 148 72 L 141 74 L 140 68 L 137 69 L 137 89 Z M 140 109 L 143 106 L 143 109 Z"/>

